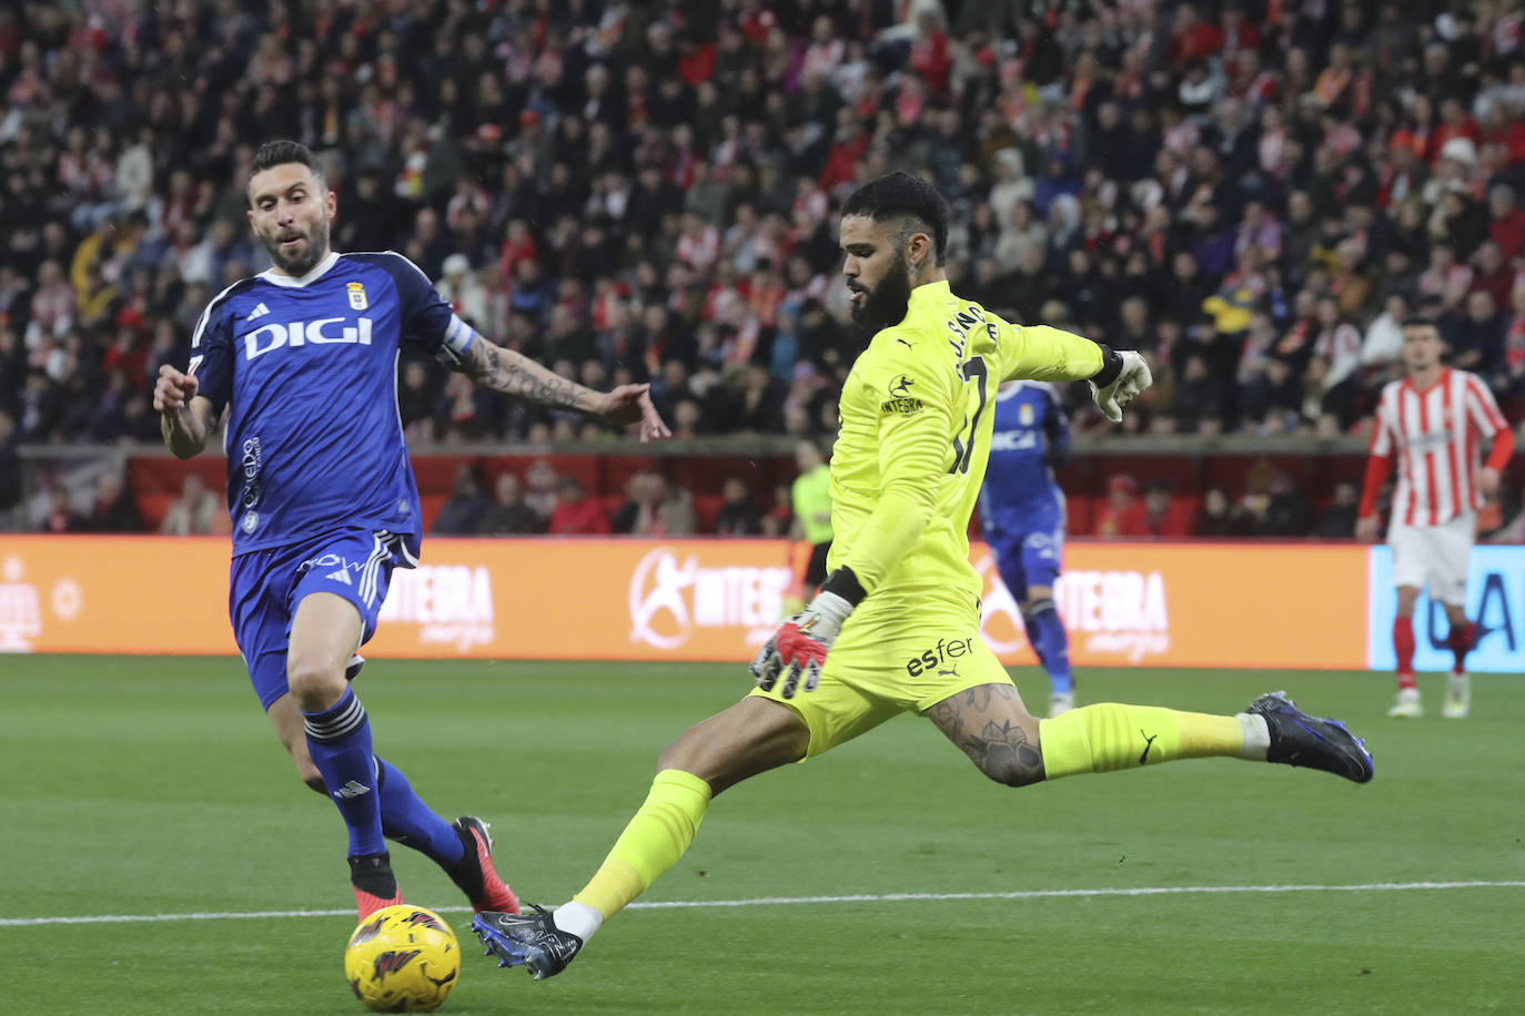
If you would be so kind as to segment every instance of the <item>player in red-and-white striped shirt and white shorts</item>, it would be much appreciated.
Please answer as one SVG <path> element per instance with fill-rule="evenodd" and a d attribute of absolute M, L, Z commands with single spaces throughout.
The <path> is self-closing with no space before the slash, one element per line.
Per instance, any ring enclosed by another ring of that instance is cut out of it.
<path fill-rule="evenodd" d="M 1430 597 L 1446 608 L 1447 641 L 1455 657 L 1441 711 L 1462 719 L 1472 710 L 1467 653 L 1476 641 L 1476 626 L 1467 620 L 1467 565 L 1478 509 L 1498 494 L 1499 475 L 1514 454 L 1514 436 L 1488 385 L 1473 373 L 1443 367 L 1443 352 L 1434 321 L 1403 323 L 1408 376 L 1382 388 L 1356 521 L 1359 539 L 1377 538 L 1377 497 L 1397 463 L 1388 545 L 1398 591 L 1398 615 L 1392 621 L 1398 698 L 1388 716 L 1424 714 L 1414 679 L 1414 602 L 1426 585 Z M 1487 462 L 1479 455 L 1482 442 L 1491 442 Z"/>

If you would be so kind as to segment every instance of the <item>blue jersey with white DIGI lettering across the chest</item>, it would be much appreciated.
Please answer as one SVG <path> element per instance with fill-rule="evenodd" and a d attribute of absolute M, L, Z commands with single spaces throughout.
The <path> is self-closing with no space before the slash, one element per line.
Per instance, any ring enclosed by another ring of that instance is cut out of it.
<path fill-rule="evenodd" d="M 407 344 L 464 352 L 474 332 L 413 262 L 329 253 L 300 279 L 265 271 L 220 292 L 191 340 L 200 393 L 229 408 L 233 553 L 342 527 L 418 558 L 418 486 L 396 407 Z"/>

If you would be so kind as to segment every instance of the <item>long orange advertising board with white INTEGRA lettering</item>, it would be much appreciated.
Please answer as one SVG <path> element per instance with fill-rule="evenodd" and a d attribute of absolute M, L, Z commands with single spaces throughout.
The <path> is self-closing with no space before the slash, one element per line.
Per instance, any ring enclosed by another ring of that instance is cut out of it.
<path fill-rule="evenodd" d="M 749 660 L 790 582 L 782 541 L 432 539 L 398 571 L 380 658 Z M 1031 663 L 990 553 L 984 634 Z M 1058 589 L 1080 666 L 1366 666 L 1368 550 L 1072 544 Z M 15 536 L 0 650 L 230 653 L 227 541 Z"/>

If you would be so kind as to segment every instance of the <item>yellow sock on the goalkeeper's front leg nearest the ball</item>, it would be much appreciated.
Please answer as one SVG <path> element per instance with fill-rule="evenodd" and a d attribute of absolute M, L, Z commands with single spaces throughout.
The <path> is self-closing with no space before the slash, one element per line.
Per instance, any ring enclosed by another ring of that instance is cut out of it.
<path fill-rule="evenodd" d="M 694 842 L 694 833 L 709 807 L 709 784 L 682 769 L 663 769 L 651 781 L 651 794 L 593 880 L 572 899 L 587 903 L 605 919 L 636 899 Z"/>

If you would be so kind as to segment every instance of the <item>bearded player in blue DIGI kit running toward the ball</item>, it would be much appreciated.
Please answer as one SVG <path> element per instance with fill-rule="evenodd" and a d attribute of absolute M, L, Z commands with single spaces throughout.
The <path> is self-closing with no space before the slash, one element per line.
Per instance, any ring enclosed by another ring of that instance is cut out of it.
<path fill-rule="evenodd" d="M 154 388 L 165 443 L 200 452 L 227 410 L 233 519 L 229 612 L 238 649 L 302 780 L 339 806 L 360 917 L 400 903 L 384 839 L 445 870 L 476 909 L 517 909 L 486 823 L 445 823 L 372 752 L 349 681 L 393 568 L 419 553 L 418 487 L 396 405 L 400 350 L 435 353 L 477 384 L 668 436 L 647 385 L 584 388 L 494 346 L 390 251 L 329 250 L 334 192 L 313 154 L 270 142 L 249 178 L 249 222 L 273 267 L 220 292 L 185 372 Z"/>

